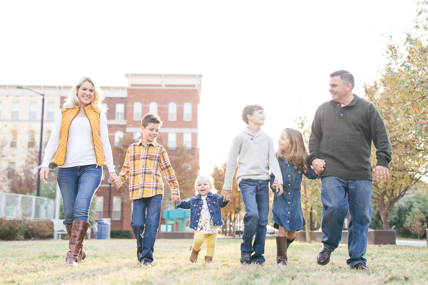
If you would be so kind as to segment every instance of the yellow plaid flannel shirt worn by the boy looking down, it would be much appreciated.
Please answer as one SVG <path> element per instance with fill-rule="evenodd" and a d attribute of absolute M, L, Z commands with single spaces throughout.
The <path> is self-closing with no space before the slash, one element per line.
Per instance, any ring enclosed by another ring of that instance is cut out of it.
<path fill-rule="evenodd" d="M 131 144 L 126 152 L 125 162 L 119 174 L 122 183 L 129 178 L 129 197 L 131 200 L 163 196 L 162 172 L 171 188 L 171 194 L 180 195 L 174 170 L 163 146 L 152 141 L 146 146 L 143 139 Z"/>

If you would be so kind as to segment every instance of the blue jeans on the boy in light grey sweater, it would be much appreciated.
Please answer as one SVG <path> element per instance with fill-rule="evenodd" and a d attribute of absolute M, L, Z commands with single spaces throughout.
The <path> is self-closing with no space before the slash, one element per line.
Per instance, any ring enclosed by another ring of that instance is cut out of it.
<path fill-rule="evenodd" d="M 239 183 L 245 205 L 241 252 L 253 254 L 252 261 L 265 262 L 266 225 L 269 215 L 269 180 L 243 179 Z M 256 239 L 253 243 L 253 236 Z"/>

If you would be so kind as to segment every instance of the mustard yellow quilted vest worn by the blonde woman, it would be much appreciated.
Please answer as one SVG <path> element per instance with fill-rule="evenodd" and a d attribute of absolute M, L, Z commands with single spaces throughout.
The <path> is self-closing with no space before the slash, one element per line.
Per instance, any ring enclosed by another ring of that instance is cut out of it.
<path fill-rule="evenodd" d="M 86 105 L 84 110 L 89 119 L 89 123 L 91 123 L 92 145 L 95 150 L 95 155 L 97 156 L 97 165 L 103 166 L 104 152 L 100 138 L 100 110 L 94 109 L 90 104 Z M 58 151 L 53 160 L 53 162 L 59 166 L 64 165 L 65 156 L 67 155 L 68 129 L 70 128 L 71 121 L 77 116 L 77 112 L 79 112 L 79 107 L 71 109 L 62 108 L 61 135 L 59 137 Z"/>

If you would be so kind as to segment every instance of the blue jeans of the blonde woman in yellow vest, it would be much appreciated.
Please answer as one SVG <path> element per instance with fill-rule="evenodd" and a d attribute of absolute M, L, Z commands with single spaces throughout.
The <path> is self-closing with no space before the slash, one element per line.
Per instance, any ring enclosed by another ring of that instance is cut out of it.
<path fill-rule="evenodd" d="M 64 202 L 66 225 L 71 226 L 74 220 L 88 221 L 92 197 L 102 176 L 103 167 L 97 165 L 58 167 L 56 181 Z"/>

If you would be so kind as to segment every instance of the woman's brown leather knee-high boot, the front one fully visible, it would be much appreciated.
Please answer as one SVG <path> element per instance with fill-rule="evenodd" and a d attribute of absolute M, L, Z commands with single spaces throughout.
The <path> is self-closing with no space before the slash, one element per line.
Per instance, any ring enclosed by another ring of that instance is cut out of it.
<path fill-rule="evenodd" d="M 88 232 L 90 223 L 84 220 L 74 220 L 73 226 L 71 227 L 71 237 L 68 242 L 67 257 L 65 259 L 65 266 L 77 266 L 79 254 L 83 247 L 83 240 L 85 239 L 86 233 Z"/>

